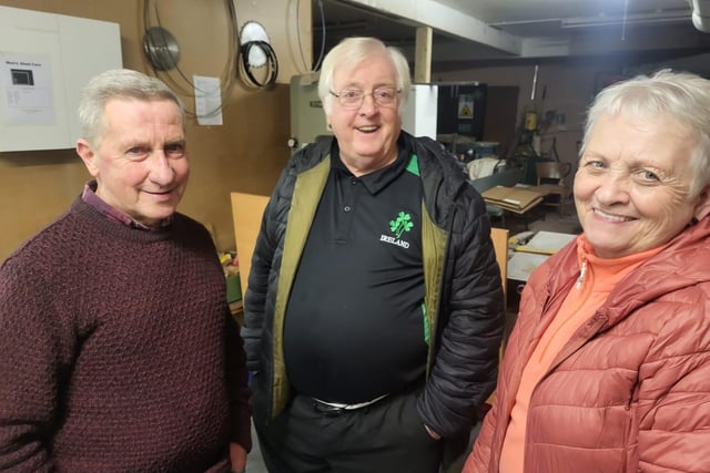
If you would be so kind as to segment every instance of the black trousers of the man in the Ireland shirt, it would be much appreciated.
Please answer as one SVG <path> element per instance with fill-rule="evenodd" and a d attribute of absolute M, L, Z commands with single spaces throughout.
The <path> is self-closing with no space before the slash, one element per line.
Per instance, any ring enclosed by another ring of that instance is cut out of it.
<path fill-rule="evenodd" d="M 264 463 L 270 473 L 437 473 L 443 444 L 426 432 L 416 395 L 388 395 L 342 413 L 296 395 L 268 423 L 255 412 Z"/>

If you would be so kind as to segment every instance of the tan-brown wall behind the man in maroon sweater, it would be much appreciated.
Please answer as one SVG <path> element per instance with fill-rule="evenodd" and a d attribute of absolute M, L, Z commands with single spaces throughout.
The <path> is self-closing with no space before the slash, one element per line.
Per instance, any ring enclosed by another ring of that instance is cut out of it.
<path fill-rule="evenodd" d="M 234 3 L 240 28 L 252 20 L 266 29 L 280 72 L 276 86 L 270 90 L 237 83 L 223 96 L 222 126 L 197 125 L 193 117 L 186 124 L 192 171 L 179 209 L 211 228 L 222 250 L 234 248 L 230 193 L 270 194 L 291 154 L 286 145 L 288 82 L 292 75 L 307 71 L 304 61 L 310 63 L 312 58 L 310 1 Z M 189 110 L 194 110 L 191 88 L 180 73 L 154 72 L 143 54 L 143 1 L 0 0 L 0 4 L 119 23 L 124 68 L 160 76 L 182 96 Z M 176 38 L 181 48 L 179 68 L 187 79 L 192 74 L 222 76 L 230 55 L 225 2 L 153 0 L 149 6 Z M 67 209 L 88 178 L 73 150 L 0 153 L 0 261 Z M 51 255 L 47 257 L 51 261 Z"/>

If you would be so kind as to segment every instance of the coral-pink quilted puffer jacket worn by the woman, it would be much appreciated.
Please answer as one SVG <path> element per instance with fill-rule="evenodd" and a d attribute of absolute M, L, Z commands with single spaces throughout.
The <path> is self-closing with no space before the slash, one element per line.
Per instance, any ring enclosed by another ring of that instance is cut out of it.
<path fill-rule="evenodd" d="M 710 472 L 710 218 L 632 270 L 532 392 L 525 473 Z M 572 243 L 525 288 L 465 473 L 498 472 L 520 373 L 579 275 Z"/>

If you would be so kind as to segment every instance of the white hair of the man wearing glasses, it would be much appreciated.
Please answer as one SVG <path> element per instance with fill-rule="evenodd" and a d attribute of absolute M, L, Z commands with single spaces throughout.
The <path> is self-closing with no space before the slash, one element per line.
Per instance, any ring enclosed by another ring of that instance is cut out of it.
<path fill-rule="evenodd" d="M 355 66 L 363 61 L 369 59 L 372 54 L 386 53 L 392 60 L 392 64 L 397 73 L 396 86 L 402 92 L 399 93 L 399 106 L 398 112 L 402 114 L 404 104 L 409 97 L 409 88 L 412 86 L 412 79 L 409 78 L 409 64 L 402 51 L 397 48 L 388 47 L 376 38 L 366 37 L 353 37 L 346 38 L 341 41 L 335 48 L 333 48 L 323 60 L 323 66 L 321 68 L 321 78 L 318 81 L 318 96 L 323 102 L 323 109 L 326 114 L 331 113 L 333 95 L 333 74 L 335 69 L 347 64 L 348 66 Z"/>

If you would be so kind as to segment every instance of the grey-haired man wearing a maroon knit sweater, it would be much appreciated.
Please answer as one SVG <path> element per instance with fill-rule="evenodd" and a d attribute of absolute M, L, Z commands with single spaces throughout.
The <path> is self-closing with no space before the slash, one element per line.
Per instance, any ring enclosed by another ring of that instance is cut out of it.
<path fill-rule="evenodd" d="M 182 104 L 115 70 L 79 116 L 93 179 L 0 267 L 0 471 L 242 471 L 242 341 L 210 234 L 175 212 Z"/>

